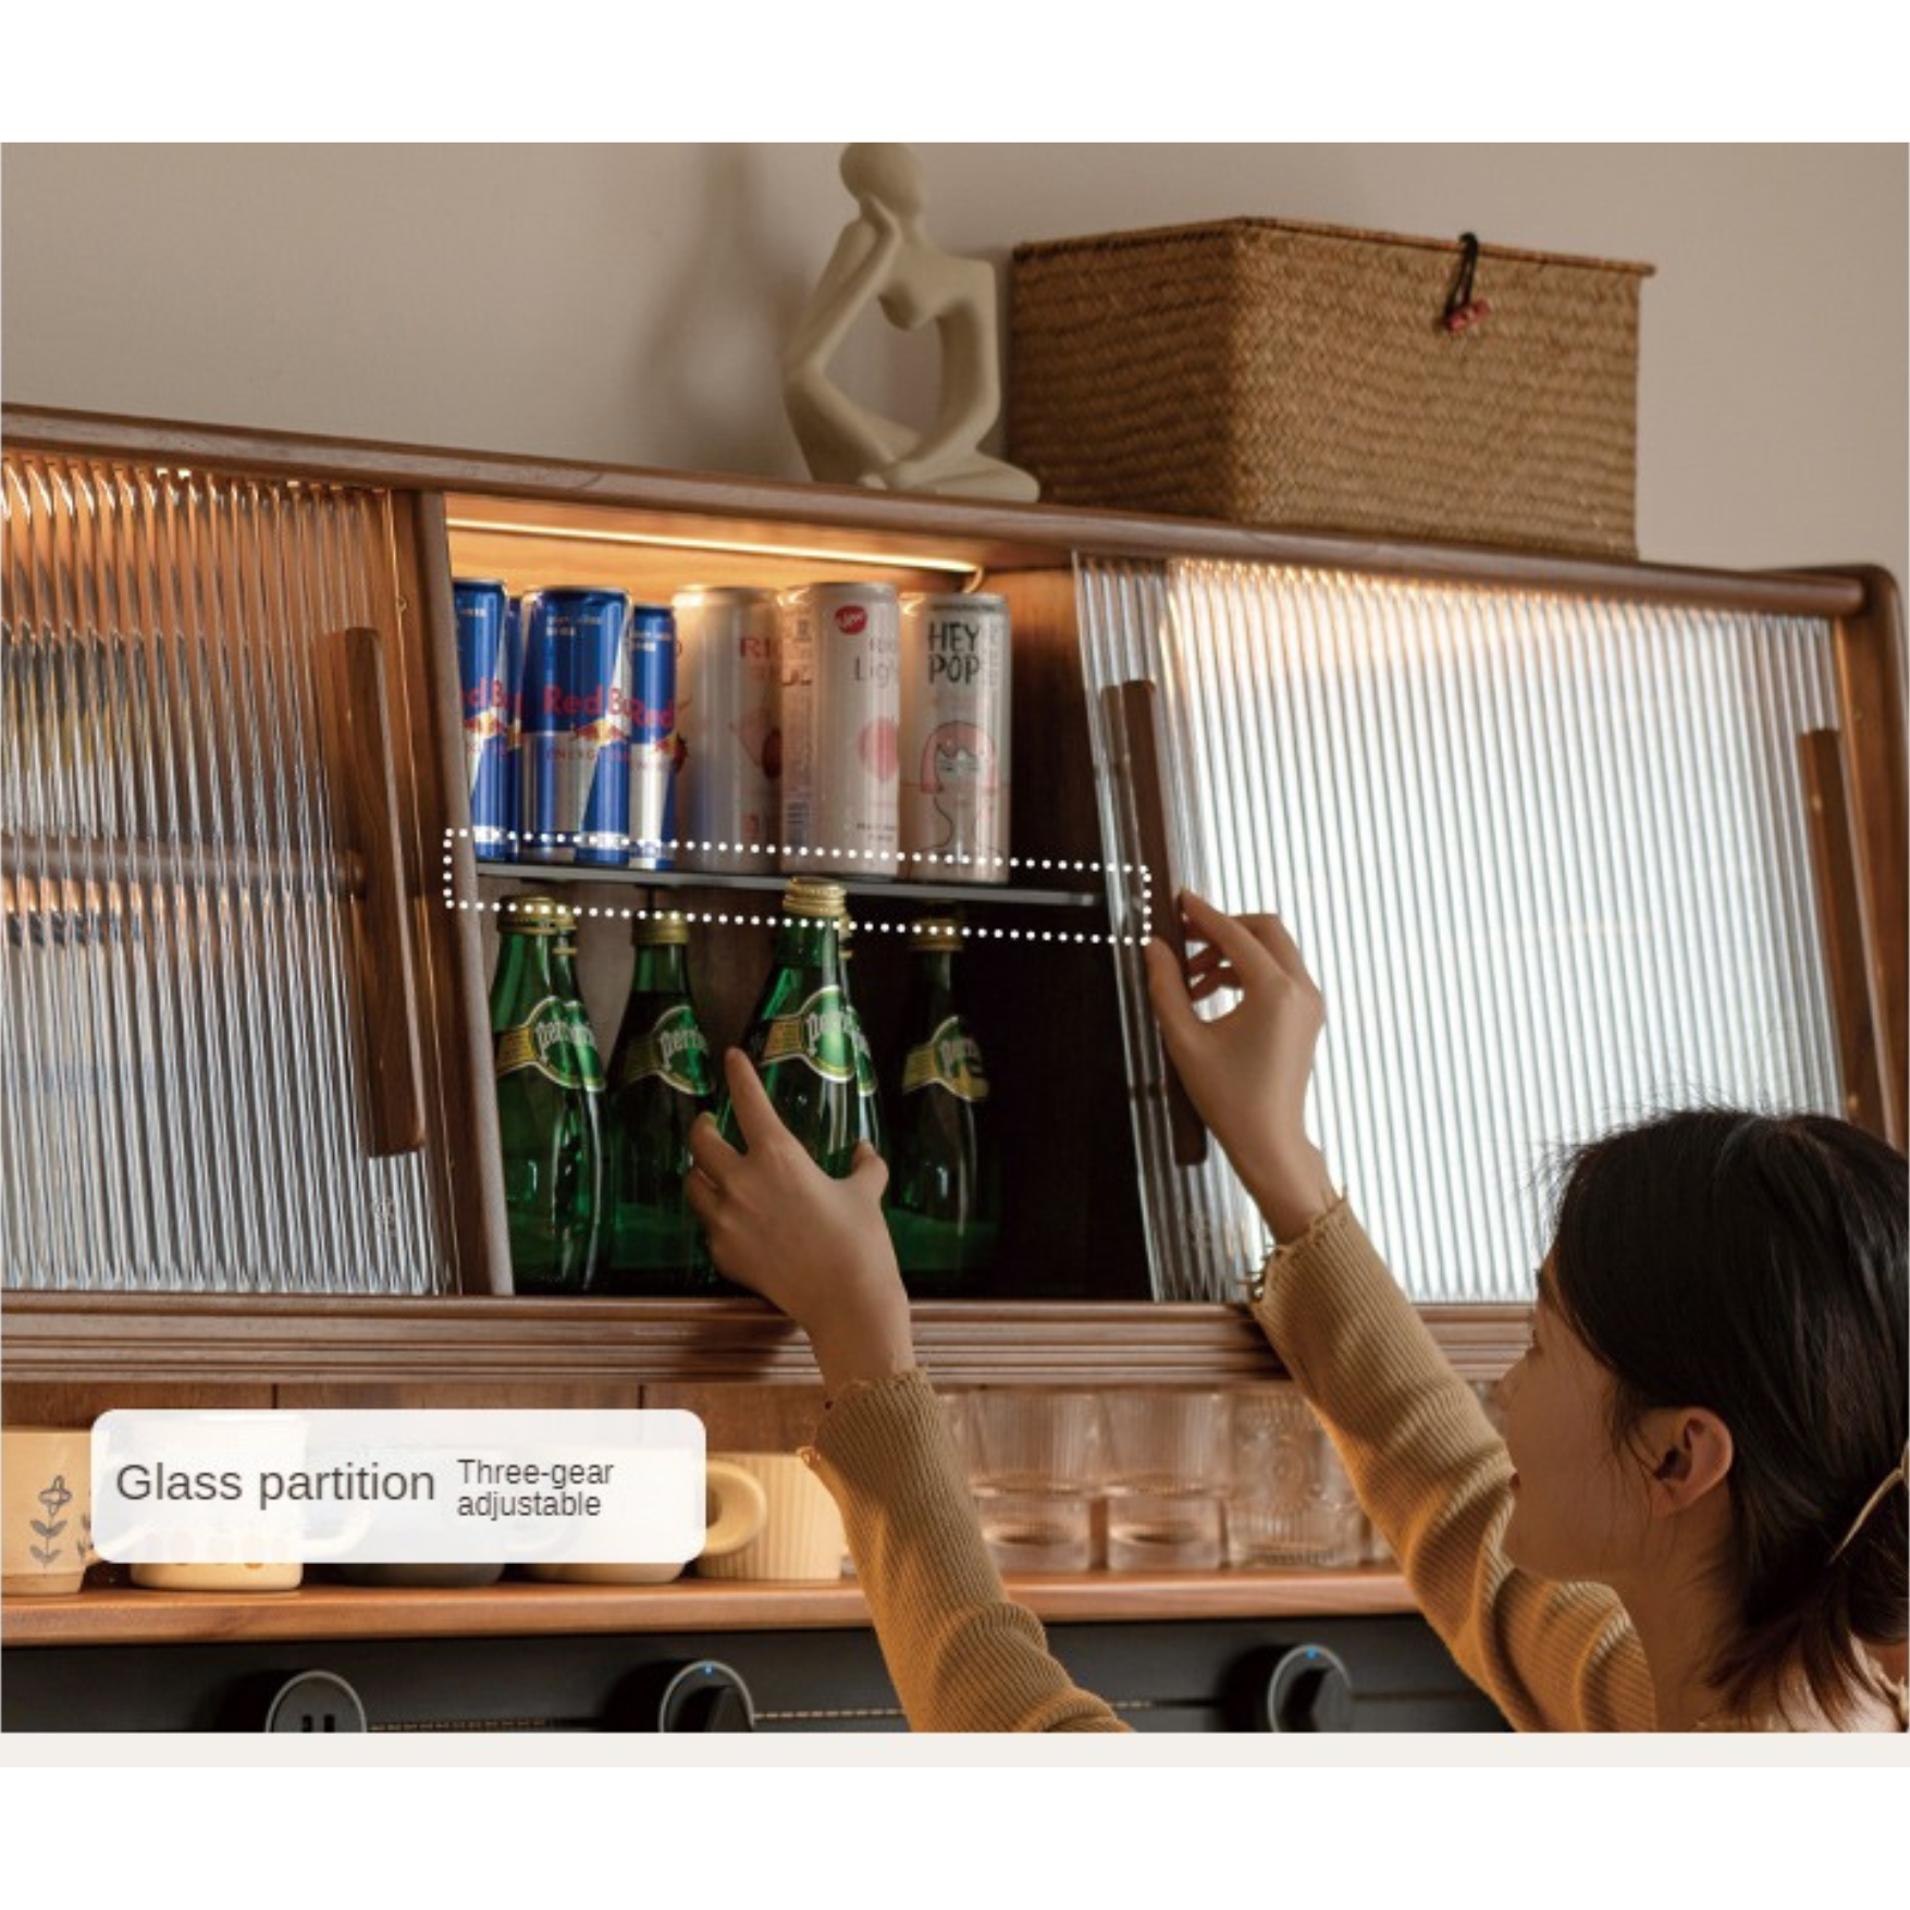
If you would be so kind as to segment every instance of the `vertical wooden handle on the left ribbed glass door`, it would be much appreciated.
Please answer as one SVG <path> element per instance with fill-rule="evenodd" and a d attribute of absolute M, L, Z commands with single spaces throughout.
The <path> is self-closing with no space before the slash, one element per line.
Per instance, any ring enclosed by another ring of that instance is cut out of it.
<path fill-rule="evenodd" d="M 357 987 L 359 1079 L 371 1154 L 424 1146 L 418 1007 L 397 837 L 397 775 L 376 630 L 332 630 L 317 647 L 325 764 L 355 881 L 346 884 Z"/>

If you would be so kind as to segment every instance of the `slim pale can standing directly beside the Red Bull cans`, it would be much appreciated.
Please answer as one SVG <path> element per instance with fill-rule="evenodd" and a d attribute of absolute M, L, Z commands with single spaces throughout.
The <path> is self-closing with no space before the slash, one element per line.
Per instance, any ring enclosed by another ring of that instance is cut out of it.
<path fill-rule="evenodd" d="M 670 609 L 684 747 L 676 867 L 730 875 L 774 869 L 783 827 L 775 592 L 699 584 L 678 590 Z"/>

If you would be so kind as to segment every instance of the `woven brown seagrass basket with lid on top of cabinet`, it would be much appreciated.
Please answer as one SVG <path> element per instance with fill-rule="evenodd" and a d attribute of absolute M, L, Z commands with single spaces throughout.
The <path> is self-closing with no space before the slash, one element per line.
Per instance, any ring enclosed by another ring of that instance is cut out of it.
<path fill-rule="evenodd" d="M 1633 556 L 1650 269 L 1291 220 L 1016 246 L 1008 456 L 1054 504 Z"/>

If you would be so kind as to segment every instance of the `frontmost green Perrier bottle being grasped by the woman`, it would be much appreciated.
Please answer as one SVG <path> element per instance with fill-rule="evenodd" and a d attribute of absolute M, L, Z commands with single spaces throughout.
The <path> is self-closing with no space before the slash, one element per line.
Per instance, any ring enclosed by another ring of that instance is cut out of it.
<path fill-rule="evenodd" d="M 840 882 L 791 881 L 770 980 L 743 1039 L 783 1125 L 838 1180 L 850 1171 L 856 1142 L 879 1138 L 871 1133 L 875 1098 L 858 1081 L 861 1022 L 842 968 L 846 915 Z M 728 1091 L 716 1125 L 724 1140 L 743 1146 Z"/>

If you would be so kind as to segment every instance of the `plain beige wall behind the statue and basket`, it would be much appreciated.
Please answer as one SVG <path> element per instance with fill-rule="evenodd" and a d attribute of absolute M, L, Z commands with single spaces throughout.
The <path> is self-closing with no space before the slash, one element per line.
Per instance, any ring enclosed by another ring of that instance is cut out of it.
<path fill-rule="evenodd" d="M 800 476 L 777 348 L 837 147 L 8 147 L 4 390 Z M 1641 542 L 1906 567 L 1904 147 L 923 147 L 957 250 L 1285 214 L 1650 260 Z M 919 414 L 923 338 L 852 378 Z"/>

